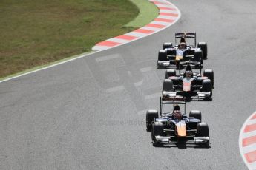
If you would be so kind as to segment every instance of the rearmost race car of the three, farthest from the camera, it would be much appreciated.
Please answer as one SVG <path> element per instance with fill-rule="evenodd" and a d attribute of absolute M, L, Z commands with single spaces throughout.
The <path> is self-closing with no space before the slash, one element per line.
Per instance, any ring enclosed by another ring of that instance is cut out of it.
<path fill-rule="evenodd" d="M 186 38 L 194 38 L 194 45 L 186 44 Z M 196 33 L 175 33 L 175 44 L 177 39 L 180 39 L 178 45 L 172 46 L 170 42 L 163 44 L 163 50 L 158 52 L 157 66 L 159 68 L 177 66 L 177 61 L 180 61 L 181 66 L 194 64 L 203 67 L 203 59 L 207 58 L 206 42 L 197 44 Z"/>

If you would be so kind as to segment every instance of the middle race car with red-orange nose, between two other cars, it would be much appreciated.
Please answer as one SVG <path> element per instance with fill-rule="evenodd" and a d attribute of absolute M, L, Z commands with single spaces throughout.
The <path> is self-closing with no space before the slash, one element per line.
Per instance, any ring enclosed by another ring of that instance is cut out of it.
<path fill-rule="evenodd" d="M 185 72 L 180 75 L 176 75 L 176 70 L 168 69 L 163 82 L 163 98 L 181 95 L 187 99 L 211 99 L 213 86 L 214 72 L 212 69 L 205 69 L 203 76 L 201 69 L 200 73 L 193 72 L 191 65 L 188 65 Z"/>

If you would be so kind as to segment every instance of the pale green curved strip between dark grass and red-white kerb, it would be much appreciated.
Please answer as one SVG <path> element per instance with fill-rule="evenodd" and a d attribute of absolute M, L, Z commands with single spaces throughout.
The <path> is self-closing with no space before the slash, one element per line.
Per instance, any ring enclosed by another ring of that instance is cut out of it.
<path fill-rule="evenodd" d="M 139 15 L 130 21 L 125 27 L 143 27 L 157 18 L 159 10 L 153 3 L 148 3 L 147 0 L 130 0 L 140 9 Z"/>

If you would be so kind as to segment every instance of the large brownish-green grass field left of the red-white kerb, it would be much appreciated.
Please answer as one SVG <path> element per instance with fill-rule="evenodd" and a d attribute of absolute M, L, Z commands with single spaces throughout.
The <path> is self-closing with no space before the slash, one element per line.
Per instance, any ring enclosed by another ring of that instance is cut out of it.
<path fill-rule="evenodd" d="M 99 41 L 140 27 L 143 19 L 124 27 L 141 8 L 142 3 L 136 7 L 131 1 L 1 0 L 0 78 L 89 52 Z"/>

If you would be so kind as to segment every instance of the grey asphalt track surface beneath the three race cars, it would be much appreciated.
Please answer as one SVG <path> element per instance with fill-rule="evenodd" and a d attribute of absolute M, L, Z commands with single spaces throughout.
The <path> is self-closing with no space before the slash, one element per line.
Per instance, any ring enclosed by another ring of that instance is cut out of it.
<path fill-rule="evenodd" d="M 0 169 L 247 169 L 238 137 L 256 110 L 256 1 L 174 1 L 160 33 L 0 84 Z M 211 148 L 156 148 L 145 110 L 159 108 L 157 51 L 196 31 L 214 69 L 213 101 L 192 101 Z"/>

